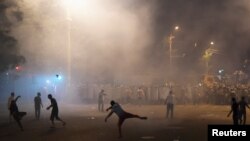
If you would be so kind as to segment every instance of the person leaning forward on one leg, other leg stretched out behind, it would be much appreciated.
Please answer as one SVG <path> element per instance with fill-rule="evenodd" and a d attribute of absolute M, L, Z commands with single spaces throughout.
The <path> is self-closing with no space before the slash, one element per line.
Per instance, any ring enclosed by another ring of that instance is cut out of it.
<path fill-rule="evenodd" d="M 105 122 L 107 122 L 108 118 L 113 114 L 113 113 L 116 113 L 116 115 L 118 116 L 119 120 L 118 120 L 118 130 L 119 130 L 119 138 L 122 137 L 122 131 L 121 131 L 121 127 L 122 127 L 122 124 L 123 122 L 128 119 L 128 118 L 139 118 L 139 119 L 143 119 L 143 120 L 146 120 L 147 117 L 141 117 L 141 116 L 138 116 L 138 115 L 134 115 L 134 114 L 131 114 L 131 113 L 128 113 L 126 111 L 124 111 L 122 109 L 122 107 L 115 101 L 111 101 L 110 102 L 111 106 L 109 108 L 107 108 L 106 111 L 109 111 L 111 110 L 111 112 L 106 116 L 105 118 Z"/>

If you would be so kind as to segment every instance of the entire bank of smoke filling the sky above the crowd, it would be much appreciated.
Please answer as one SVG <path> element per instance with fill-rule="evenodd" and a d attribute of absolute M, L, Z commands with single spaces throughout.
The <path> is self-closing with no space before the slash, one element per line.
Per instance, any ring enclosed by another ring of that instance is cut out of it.
<path fill-rule="evenodd" d="M 211 73 L 232 73 L 249 59 L 249 2 L 235 0 L 91 0 L 70 10 L 61 0 L 18 1 L 23 21 L 12 30 L 27 65 L 35 71 L 67 70 L 70 32 L 75 82 L 167 80 L 173 40 L 172 77 L 204 74 L 202 56 L 210 42 L 218 50 Z M 70 29 L 69 29 L 70 23 Z M 191 78 L 192 78 L 191 77 Z M 188 77 L 189 78 L 189 77 Z M 193 79 L 193 78 L 192 78 Z M 190 81 L 190 79 L 187 79 Z"/>

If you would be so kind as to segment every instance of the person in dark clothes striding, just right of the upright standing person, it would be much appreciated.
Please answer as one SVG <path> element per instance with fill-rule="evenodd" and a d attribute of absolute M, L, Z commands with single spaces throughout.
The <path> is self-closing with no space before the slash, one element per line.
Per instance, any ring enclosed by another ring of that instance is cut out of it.
<path fill-rule="evenodd" d="M 66 122 L 64 122 L 61 118 L 58 117 L 59 110 L 58 110 L 56 99 L 53 98 L 51 94 L 48 95 L 48 99 L 50 100 L 51 105 L 47 107 L 47 110 L 49 110 L 52 107 L 52 111 L 51 111 L 51 115 L 50 115 L 50 120 L 52 123 L 51 128 L 55 127 L 54 118 L 56 118 L 56 120 L 58 120 L 58 121 L 61 121 L 62 125 L 65 126 Z"/>

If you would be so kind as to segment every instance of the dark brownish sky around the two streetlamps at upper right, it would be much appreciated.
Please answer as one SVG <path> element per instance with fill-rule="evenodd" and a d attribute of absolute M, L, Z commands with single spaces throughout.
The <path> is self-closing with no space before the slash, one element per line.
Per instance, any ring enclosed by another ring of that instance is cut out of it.
<path fill-rule="evenodd" d="M 194 67 L 201 52 L 215 42 L 219 50 L 214 66 L 232 71 L 250 59 L 250 3 L 241 0 L 156 0 L 154 11 L 155 42 L 159 43 L 175 25 L 181 27 L 174 47 L 186 53 L 181 66 Z M 197 43 L 197 47 L 194 44 Z"/>

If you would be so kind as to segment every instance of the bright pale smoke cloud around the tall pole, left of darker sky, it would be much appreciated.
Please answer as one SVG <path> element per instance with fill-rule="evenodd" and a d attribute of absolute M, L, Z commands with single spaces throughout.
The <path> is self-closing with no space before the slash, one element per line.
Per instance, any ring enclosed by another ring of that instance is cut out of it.
<path fill-rule="evenodd" d="M 150 2 L 85 1 L 83 8 L 70 9 L 70 17 L 61 0 L 19 5 L 24 20 L 14 33 L 30 68 L 66 74 L 70 32 L 73 80 L 110 82 L 149 73 Z"/>

